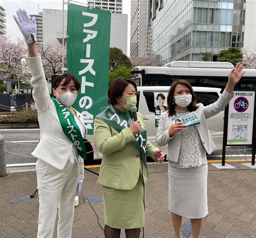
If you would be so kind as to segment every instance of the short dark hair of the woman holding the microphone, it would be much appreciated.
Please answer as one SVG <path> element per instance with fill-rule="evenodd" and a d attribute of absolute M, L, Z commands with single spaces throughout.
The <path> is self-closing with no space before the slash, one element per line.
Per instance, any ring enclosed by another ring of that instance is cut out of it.
<path fill-rule="evenodd" d="M 107 92 L 107 96 L 109 96 L 109 101 L 112 106 L 118 104 L 118 97 L 123 95 L 124 89 L 131 83 L 136 92 L 137 86 L 131 79 L 127 78 L 117 78 L 113 80 L 111 85 L 109 86 L 109 91 Z"/>

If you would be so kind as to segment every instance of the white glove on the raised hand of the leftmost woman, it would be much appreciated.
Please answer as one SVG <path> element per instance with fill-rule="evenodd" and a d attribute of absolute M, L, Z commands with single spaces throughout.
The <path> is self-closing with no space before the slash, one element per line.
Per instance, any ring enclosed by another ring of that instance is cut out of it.
<path fill-rule="evenodd" d="M 19 9 L 16 11 L 16 14 L 18 18 L 14 15 L 15 22 L 17 23 L 19 30 L 21 30 L 26 40 L 26 44 L 29 45 L 33 43 L 31 34 L 36 41 L 36 18 L 32 17 L 32 20 L 30 20 L 28 13 L 24 9 Z"/>

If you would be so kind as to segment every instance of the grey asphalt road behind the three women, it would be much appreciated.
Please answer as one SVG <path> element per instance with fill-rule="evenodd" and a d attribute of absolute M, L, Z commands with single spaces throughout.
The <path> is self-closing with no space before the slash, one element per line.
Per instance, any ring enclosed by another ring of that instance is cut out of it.
<path fill-rule="evenodd" d="M 36 163 L 37 158 L 31 155 L 39 141 L 39 129 L 0 129 L 5 136 L 6 165 Z M 244 155 L 246 154 L 246 156 Z M 226 157 L 245 159 L 252 154 L 250 146 L 227 146 Z M 213 151 L 210 159 L 221 159 L 222 150 Z"/>

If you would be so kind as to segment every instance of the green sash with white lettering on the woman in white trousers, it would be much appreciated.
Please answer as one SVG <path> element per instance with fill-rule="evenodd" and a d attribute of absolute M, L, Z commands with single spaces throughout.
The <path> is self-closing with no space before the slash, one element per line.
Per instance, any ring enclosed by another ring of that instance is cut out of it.
<path fill-rule="evenodd" d="M 74 115 L 69 109 L 63 106 L 57 99 L 51 97 L 54 102 L 57 114 L 59 117 L 60 125 L 62 125 L 62 130 L 64 134 L 70 139 L 73 145 L 76 147 L 79 156 L 84 160 L 86 159 L 86 148 L 84 145 L 84 139 L 80 132 L 80 129 L 76 123 Z"/>

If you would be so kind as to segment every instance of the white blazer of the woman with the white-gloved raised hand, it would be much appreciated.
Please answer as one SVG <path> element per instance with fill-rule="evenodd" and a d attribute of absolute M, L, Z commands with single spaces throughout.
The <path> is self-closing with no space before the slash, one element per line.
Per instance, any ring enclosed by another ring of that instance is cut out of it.
<path fill-rule="evenodd" d="M 25 55 L 24 58 L 32 75 L 33 99 L 36 103 L 40 127 L 40 141 L 36 149 L 32 152 L 32 155 L 62 170 L 69 159 L 73 144 L 64 134 L 55 104 L 50 99 L 41 56 L 30 58 L 28 55 Z M 84 125 L 83 116 L 78 111 L 76 113 Z M 87 131 L 86 128 L 85 131 Z M 78 164 L 79 168 L 82 169 L 83 159 L 80 156 L 78 158 Z"/>

